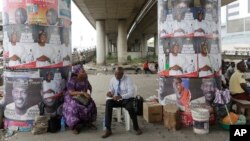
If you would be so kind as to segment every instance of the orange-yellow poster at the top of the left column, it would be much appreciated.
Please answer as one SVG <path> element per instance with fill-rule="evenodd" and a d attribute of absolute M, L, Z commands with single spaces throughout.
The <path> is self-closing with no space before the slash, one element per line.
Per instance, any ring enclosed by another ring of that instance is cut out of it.
<path fill-rule="evenodd" d="M 26 0 L 28 23 L 58 25 L 58 0 Z"/>

